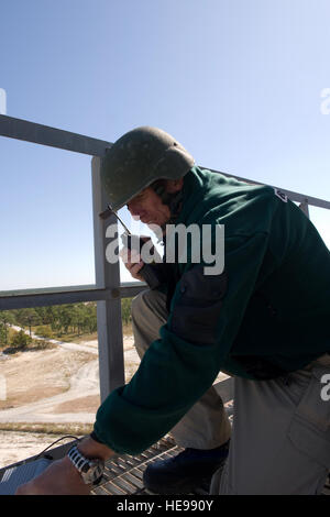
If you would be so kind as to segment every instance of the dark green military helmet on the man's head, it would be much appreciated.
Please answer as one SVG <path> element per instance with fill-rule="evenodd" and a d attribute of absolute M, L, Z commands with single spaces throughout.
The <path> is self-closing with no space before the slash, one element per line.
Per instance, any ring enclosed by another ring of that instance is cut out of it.
<path fill-rule="evenodd" d="M 165 131 L 148 127 L 129 131 L 101 160 L 109 204 L 119 210 L 153 182 L 179 179 L 194 163 L 185 147 Z"/>

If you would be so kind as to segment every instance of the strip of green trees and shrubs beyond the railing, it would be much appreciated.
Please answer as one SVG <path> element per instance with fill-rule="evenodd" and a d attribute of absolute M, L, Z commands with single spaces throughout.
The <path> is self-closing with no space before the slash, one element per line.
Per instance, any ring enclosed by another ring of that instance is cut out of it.
<path fill-rule="evenodd" d="M 131 333 L 132 298 L 121 300 L 123 332 Z M 29 331 L 16 332 L 11 326 Z M 0 349 L 25 350 L 45 348 L 44 340 L 32 339 L 32 332 L 41 338 L 63 341 L 97 339 L 97 305 L 80 302 L 0 311 Z"/>

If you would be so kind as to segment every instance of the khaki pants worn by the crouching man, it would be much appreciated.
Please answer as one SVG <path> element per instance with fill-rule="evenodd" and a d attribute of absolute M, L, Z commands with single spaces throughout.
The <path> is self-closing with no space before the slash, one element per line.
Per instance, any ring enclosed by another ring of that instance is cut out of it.
<path fill-rule="evenodd" d="M 158 338 L 167 316 L 165 295 L 157 290 L 145 290 L 133 299 L 140 358 Z M 285 380 L 235 377 L 232 432 L 213 387 L 195 404 L 172 429 L 178 446 L 213 449 L 231 436 L 228 461 L 213 475 L 211 494 L 321 492 L 330 468 L 330 400 L 321 398 L 324 375 L 330 375 L 330 355 Z M 330 389 L 323 392 L 330 395 Z"/>

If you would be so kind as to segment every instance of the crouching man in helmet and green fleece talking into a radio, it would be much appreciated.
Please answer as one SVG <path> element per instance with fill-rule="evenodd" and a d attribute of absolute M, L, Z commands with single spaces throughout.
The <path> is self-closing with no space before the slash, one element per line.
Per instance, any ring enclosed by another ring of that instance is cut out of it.
<path fill-rule="evenodd" d="M 224 226 L 224 270 L 207 274 L 191 243 L 186 262 L 164 264 L 161 288 L 133 302 L 139 371 L 100 406 L 92 435 L 19 493 L 88 493 L 100 460 L 139 453 L 170 430 L 185 451 L 146 470 L 151 491 L 179 492 L 186 479 L 213 474 L 212 494 L 319 493 L 330 466 L 330 403 L 321 396 L 330 253 L 315 227 L 277 190 L 201 170 L 153 128 L 119 139 L 102 177 L 113 209 L 128 205 L 164 231 L 210 226 L 213 251 Z M 142 265 L 128 262 L 133 275 Z M 224 466 L 219 371 L 235 383 Z"/>

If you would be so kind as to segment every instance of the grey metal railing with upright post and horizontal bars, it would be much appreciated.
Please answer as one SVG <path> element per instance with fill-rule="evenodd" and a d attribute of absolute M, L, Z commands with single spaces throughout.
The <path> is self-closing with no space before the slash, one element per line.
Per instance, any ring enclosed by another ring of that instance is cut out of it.
<path fill-rule="evenodd" d="M 101 188 L 100 158 L 112 144 L 103 140 L 97 140 L 7 116 L 0 116 L 0 135 L 92 156 L 91 174 L 96 284 L 2 292 L 0 293 L 0 310 L 74 304 L 78 301 L 97 301 L 100 395 L 101 400 L 105 400 L 112 389 L 124 384 L 121 298 L 135 296 L 145 288 L 145 284 L 143 283 L 121 284 L 119 263 L 110 264 L 106 260 L 106 224 L 117 224 L 117 219 L 112 217 L 106 222 L 99 218 L 99 213 L 107 208 L 107 199 Z M 221 174 L 248 183 L 260 184 L 258 182 L 253 182 L 248 178 L 241 178 L 226 173 Z M 283 188 L 279 188 L 279 190 L 287 195 L 293 201 L 299 202 L 301 210 L 304 210 L 308 217 L 309 206 L 330 209 L 329 201 Z M 107 241 L 109 243 L 109 240 Z"/>

